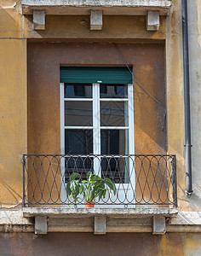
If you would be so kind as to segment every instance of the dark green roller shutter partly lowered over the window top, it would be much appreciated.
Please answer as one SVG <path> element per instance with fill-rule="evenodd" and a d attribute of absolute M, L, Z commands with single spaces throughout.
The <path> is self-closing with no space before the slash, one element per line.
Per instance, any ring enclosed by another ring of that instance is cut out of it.
<path fill-rule="evenodd" d="M 131 84 L 128 67 L 60 67 L 60 83 Z"/>

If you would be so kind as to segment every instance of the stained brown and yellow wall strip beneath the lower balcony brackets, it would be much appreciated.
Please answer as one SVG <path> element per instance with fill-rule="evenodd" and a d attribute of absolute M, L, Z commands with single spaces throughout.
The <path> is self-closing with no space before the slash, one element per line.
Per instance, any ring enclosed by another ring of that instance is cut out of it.
<path fill-rule="evenodd" d="M 152 236 L 146 233 L 113 233 L 94 236 L 87 233 L 0 234 L 0 254 L 15 256 L 52 255 L 147 255 L 199 256 L 201 234 L 175 233 Z"/>

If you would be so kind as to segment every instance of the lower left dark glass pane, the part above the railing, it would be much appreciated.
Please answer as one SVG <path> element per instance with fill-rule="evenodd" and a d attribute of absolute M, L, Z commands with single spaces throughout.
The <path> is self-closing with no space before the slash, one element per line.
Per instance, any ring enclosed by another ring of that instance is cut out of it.
<path fill-rule="evenodd" d="M 65 154 L 92 154 L 92 130 L 65 130 Z"/>

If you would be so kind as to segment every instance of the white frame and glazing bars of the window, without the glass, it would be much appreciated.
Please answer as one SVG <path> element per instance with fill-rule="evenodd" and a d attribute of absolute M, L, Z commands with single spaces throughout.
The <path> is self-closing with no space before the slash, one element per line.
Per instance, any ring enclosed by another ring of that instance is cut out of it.
<path fill-rule="evenodd" d="M 129 131 L 129 155 L 135 154 L 135 126 L 134 126 L 134 88 L 133 84 L 128 85 L 128 98 L 100 98 L 100 84 L 92 84 L 92 98 L 65 98 L 64 85 L 60 83 L 60 154 L 65 154 L 65 130 L 66 129 L 92 129 L 93 130 L 93 154 L 100 154 L 100 131 L 101 129 L 128 130 Z M 93 125 L 91 126 L 65 126 L 65 102 L 93 102 Z M 97 104 L 99 102 L 99 104 Z M 128 126 L 100 126 L 100 102 L 128 102 L 129 125 Z M 130 180 L 135 188 L 135 158 L 130 157 L 129 166 L 132 166 Z M 65 160 L 61 159 L 61 179 L 65 177 Z M 95 172 L 98 172 L 100 160 L 95 158 Z M 95 173 L 98 174 L 98 173 Z M 62 181 L 64 183 L 64 181 Z M 61 184 L 62 184 L 61 183 Z M 117 183 L 118 190 L 130 189 L 130 183 Z M 133 195 L 131 195 L 133 198 Z M 129 200 L 132 200 L 130 197 Z M 66 198 L 66 188 L 61 186 L 61 200 Z M 134 202 L 135 203 L 135 202 Z M 126 203 L 125 203 L 126 205 Z M 101 206 L 103 207 L 103 206 Z M 108 207 L 108 206 L 104 206 Z M 124 205 L 123 205 L 124 207 Z M 134 207 L 134 206 L 132 206 Z"/>

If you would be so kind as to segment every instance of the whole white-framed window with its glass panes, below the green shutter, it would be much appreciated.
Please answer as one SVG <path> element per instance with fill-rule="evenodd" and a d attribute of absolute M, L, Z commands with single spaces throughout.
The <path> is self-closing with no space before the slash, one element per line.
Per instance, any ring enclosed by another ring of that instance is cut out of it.
<path fill-rule="evenodd" d="M 74 71 L 77 73 L 76 68 Z M 72 79 L 77 83 L 71 79 L 60 83 L 60 143 L 61 154 L 68 155 L 63 163 L 66 181 L 75 172 L 71 155 L 77 154 L 82 155 L 76 160 L 76 172 L 80 170 L 82 178 L 93 170 L 111 178 L 117 189 L 129 189 L 135 177 L 129 175 L 129 162 L 121 168 L 123 158 L 118 160 L 118 155 L 135 154 L 133 84 L 119 84 L 121 79 L 115 84 L 101 83 L 100 77 L 95 79 L 99 83 L 81 83 L 78 77 Z M 113 158 L 108 161 L 107 155 Z"/>

